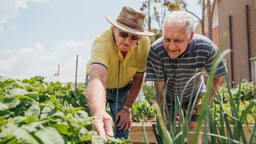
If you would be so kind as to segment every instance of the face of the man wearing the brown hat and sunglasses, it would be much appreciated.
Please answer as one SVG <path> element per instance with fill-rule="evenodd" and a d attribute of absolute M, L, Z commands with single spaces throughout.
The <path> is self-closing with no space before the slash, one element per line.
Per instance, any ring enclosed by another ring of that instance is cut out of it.
<path fill-rule="evenodd" d="M 122 30 L 118 31 L 118 28 L 114 26 L 113 28 L 114 30 L 114 36 L 115 36 L 115 43 L 117 44 L 117 47 L 121 50 L 121 51 L 128 51 L 130 49 L 132 49 L 132 47 L 135 46 L 136 44 L 136 40 L 131 40 L 131 33 L 128 33 L 128 37 L 127 38 L 122 38 L 121 36 L 119 36 L 119 31 L 123 32 Z M 134 35 L 136 36 L 136 35 Z"/>

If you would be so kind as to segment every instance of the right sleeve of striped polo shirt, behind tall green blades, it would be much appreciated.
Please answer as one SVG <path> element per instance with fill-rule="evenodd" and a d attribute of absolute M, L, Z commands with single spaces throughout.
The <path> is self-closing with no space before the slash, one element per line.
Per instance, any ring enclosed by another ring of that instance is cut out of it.
<path fill-rule="evenodd" d="M 214 64 L 214 58 L 216 56 L 222 57 L 221 53 L 218 53 L 218 48 L 215 46 L 215 44 L 213 44 L 211 50 L 209 51 L 208 55 L 206 56 L 205 69 L 206 69 L 207 73 L 209 73 L 209 74 L 210 74 L 211 67 Z M 225 66 L 225 64 L 223 64 L 223 58 L 221 58 L 221 60 L 218 61 L 218 66 L 217 66 L 217 69 L 215 70 L 214 77 L 224 75 L 225 74 L 224 68 L 226 68 L 226 66 Z"/>

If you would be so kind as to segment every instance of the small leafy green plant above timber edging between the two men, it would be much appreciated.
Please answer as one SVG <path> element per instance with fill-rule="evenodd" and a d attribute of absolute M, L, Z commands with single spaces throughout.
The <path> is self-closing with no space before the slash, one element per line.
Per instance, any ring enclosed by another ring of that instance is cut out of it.
<path fill-rule="evenodd" d="M 150 103 L 146 100 L 142 102 L 135 102 L 132 107 L 132 120 L 134 122 L 140 122 L 142 121 L 144 114 L 145 121 L 153 121 L 156 117 L 155 111 L 156 108 L 154 105 L 150 105 Z"/>

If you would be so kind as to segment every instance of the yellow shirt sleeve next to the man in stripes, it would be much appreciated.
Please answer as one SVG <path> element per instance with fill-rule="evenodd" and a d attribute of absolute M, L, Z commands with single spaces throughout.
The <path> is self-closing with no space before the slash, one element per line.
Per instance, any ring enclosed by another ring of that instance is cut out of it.
<path fill-rule="evenodd" d="M 149 53 L 149 47 L 150 47 L 150 40 L 149 37 L 145 37 L 145 43 L 142 43 L 144 51 L 141 57 L 141 63 L 139 64 L 138 73 L 143 73 L 146 71 L 146 61 L 147 61 L 147 54 Z"/>

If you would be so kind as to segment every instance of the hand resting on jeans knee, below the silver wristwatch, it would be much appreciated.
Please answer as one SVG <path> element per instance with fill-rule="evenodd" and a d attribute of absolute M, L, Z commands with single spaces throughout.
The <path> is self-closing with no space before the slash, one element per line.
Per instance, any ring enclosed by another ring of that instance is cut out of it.
<path fill-rule="evenodd" d="M 128 126 L 131 128 L 132 126 L 132 119 L 131 119 L 131 112 L 128 112 L 126 109 L 121 109 L 117 113 L 116 121 L 120 118 L 120 121 L 118 123 L 118 130 L 123 129 L 124 131 L 127 130 Z"/>

